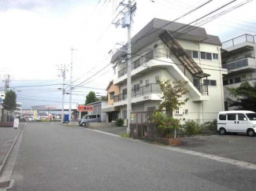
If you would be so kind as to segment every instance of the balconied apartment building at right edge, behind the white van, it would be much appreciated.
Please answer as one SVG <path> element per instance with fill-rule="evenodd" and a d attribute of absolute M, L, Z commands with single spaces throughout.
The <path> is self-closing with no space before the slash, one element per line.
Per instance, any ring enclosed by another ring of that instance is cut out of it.
<path fill-rule="evenodd" d="M 240 35 L 222 43 L 221 61 L 222 68 L 228 69 L 228 75 L 224 75 L 224 99 L 230 97 L 228 87 L 239 87 L 243 82 L 251 85 L 256 79 L 256 44 L 253 35 Z M 235 97 L 230 97 L 234 99 Z M 225 110 L 228 108 L 224 102 Z"/>

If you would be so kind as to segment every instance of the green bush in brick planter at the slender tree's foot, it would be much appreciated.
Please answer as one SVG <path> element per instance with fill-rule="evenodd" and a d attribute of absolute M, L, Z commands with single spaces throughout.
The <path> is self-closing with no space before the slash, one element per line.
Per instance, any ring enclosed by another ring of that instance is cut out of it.
<path fill-rule="evenodd" d="M 166 138 L 173 137 L 173 131 L 180 128 L 180 120 L 166 116 L 163 112 L 155 112 L 153 122 L 156 123 L 158 130 Z"/>

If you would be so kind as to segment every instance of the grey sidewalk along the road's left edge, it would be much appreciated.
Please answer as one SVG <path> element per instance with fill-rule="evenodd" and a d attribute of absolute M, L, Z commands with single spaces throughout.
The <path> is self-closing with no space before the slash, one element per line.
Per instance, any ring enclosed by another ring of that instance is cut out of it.
<path fill-rule="evenodd" d="M 13 127 L 0 127 L 0 166 L 2 160 L 4 160 L 7 152 L 13 144 L 14 138 L 16 138 L 19 129 L 13 129 Z"/>

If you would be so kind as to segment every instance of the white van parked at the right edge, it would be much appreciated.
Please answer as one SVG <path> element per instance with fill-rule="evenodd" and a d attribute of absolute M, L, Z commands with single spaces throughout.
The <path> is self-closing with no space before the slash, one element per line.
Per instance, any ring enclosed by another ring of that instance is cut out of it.
<path fill-rule="evenodd" d="M 217 116 L 219 134 L 245 133 L 253 137 L 256 132 L 256 113 L 250 111 L 219 112 Z"/>

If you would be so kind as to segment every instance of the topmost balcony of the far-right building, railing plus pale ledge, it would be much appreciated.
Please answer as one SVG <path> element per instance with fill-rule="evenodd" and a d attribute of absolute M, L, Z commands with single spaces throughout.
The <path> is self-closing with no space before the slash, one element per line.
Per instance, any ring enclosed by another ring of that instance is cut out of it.
<path fill-rule="evenodd" d="M 228 41 L 222 42 L 222 49 L 232 51 L 232 50 L 242 50 L 247 46 L 254 46 L 255 39 L 253 35 L 241 35 L 235 39 L 230 39 Z"/>

